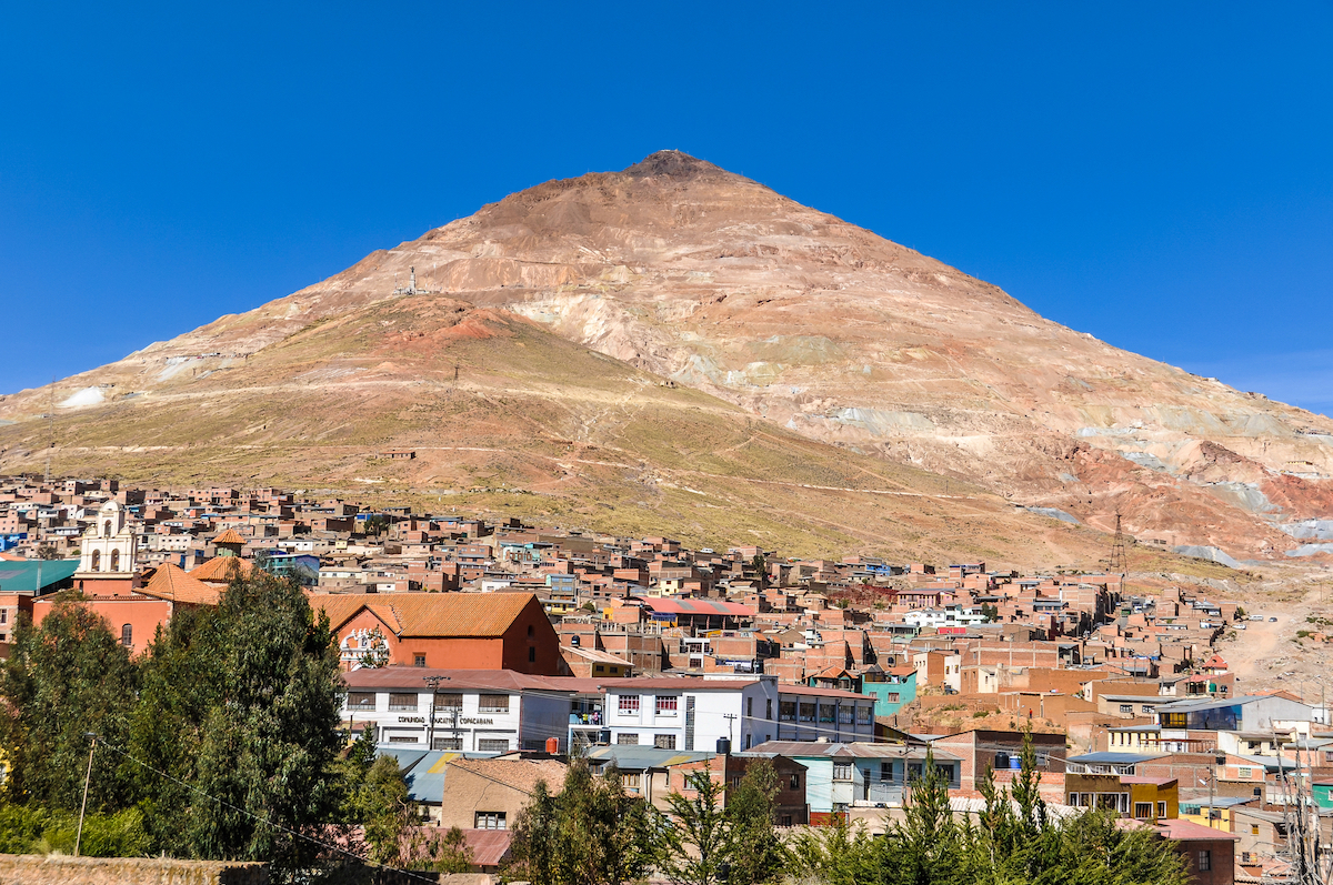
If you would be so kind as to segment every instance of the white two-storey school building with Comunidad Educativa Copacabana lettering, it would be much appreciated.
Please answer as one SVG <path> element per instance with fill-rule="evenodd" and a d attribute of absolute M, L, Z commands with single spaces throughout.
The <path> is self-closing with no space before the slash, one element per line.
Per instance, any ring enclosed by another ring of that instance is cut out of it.
<path fill-rule="evenodd" d="M 435 688 L 425 680 L 439 677 Z M 344 720 L 375 729 L 377 744 L 504 753 L 568 748 L 573 690 L 513 670 L 361 668 L 345 673 Z"/>

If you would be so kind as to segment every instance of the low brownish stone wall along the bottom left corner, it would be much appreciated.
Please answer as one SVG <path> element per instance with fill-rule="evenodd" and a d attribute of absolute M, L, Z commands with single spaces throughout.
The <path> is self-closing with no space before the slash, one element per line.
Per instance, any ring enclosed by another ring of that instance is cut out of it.
<path fill-rule="evenodd" d="M 268 866 L 140 857 L 0 854 L 0 885 L 268 885 Z"/>

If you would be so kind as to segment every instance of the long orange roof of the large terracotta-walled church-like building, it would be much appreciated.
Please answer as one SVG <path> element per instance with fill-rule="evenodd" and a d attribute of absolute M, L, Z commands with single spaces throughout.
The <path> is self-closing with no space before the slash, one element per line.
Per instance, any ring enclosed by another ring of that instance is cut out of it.
<path fill-rule="evenodd" d="M 404 637 L 499 637 L 536 598 L 533 593 L 328 593 L 311 596 L 311 605 L 328 612 L 335 629 L 368 608 Z"/>

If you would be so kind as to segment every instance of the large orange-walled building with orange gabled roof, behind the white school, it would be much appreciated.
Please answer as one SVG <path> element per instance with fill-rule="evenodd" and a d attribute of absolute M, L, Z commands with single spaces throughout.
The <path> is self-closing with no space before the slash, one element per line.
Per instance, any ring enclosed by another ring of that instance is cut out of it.
<path fill-rule="evenodd" d="M 535 593 L 312 593 L 344 669 L 389 666 L 568 676 L 560 636 Z"/>

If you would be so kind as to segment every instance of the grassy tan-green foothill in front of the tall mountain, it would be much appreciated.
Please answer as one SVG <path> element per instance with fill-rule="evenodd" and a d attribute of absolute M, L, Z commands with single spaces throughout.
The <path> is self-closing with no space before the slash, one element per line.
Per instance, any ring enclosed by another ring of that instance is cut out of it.
<path fill-rule="evenodd" d="M 96 388 L 105 400 L 59 411 L 57 469 L 353 489 L 809 556 L 1054 565 L 1104 552 L 1088 529 L 802 439 L 524 317 L 443 296 L 347 309 L 229 365 L 191 363 L 157 369 L 152 384 L 124 368 L 81 379 L 107 385 Z M 0 469 L 41 469 L 45 440 L 44 421 L 0 427 Z M 416 457 L 384 457 L 400 448 Z"/>

